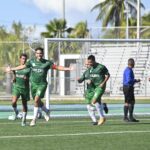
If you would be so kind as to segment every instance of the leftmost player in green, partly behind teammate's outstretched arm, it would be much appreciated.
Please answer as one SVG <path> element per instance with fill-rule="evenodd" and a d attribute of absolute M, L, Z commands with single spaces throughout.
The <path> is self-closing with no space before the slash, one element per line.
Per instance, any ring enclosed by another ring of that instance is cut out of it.
<path fill-rule="evenodd" d="M 27 61 L 27 55 L 21 54 L 20 55 L 20 65 L 24 65 Z M 13 71 L 14 78 L 13 78 L 13 88 L 12 88 L 12 107 L 15 112 L 15 116 L 13 120 L 16 120 L 18 117 L 18 109 L 17 109 L 17 101 L 19 97 L 22 98 L 22 106 L 23 106 L 23 113 L 22 113 L 22 122 L 21 125 L 26 125 L 26 115 L 27 115 L 27 101 L 30 100 L 30 93 L 29 93 L 29 75 L 30 75 L 30 68 L 24 68 L 22 70 Z"/>

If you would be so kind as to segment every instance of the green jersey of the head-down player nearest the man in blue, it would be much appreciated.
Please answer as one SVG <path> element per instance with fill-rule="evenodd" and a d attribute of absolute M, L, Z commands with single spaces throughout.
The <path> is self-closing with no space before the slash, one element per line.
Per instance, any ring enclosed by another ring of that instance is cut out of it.
<path fill-rule="evenodd" d="M 109 75 L 109 72 L 108 69 L 102 64 L 96 63 L 90 68 L 90 78 L 96 87 L 104 81 L 105 75 Z"/>

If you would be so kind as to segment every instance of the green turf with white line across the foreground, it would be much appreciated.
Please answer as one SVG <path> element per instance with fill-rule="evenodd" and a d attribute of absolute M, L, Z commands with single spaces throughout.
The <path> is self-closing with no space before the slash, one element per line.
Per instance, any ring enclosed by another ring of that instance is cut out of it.
<path fill-rule="evenodd" d="M 150 118 L 125 123 L 109 117 L 102 126 L 88 118 L 40 119 L 35 127 L 21 127 L 21 120 L 0 120 L 1 150 L 149 150 Z M 29 124 L 28 120 L 28 124 Z"/>

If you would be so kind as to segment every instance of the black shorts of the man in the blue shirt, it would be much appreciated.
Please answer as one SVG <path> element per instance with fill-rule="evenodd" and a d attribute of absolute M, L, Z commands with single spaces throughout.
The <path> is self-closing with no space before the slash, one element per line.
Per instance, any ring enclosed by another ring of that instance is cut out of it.
<path fill-rule="evenodd" d="M 125 98 L 125 103 L 134 104 L 135 97 L 134 97 L 134 87 L 133 86 L 123 86 L 123 94 Z"/>

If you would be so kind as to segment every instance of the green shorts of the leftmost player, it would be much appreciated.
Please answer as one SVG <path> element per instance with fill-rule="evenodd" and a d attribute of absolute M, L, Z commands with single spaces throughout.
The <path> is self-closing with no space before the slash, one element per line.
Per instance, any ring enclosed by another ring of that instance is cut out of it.
<path fill-rule="evenodd" d="M 21 96 L 22 100 L 29 101 L 30 100 L 30 90 L 29 87 L 20 88 L 13 85 L 12 95 L 19 98 Z"/>

